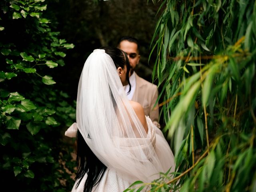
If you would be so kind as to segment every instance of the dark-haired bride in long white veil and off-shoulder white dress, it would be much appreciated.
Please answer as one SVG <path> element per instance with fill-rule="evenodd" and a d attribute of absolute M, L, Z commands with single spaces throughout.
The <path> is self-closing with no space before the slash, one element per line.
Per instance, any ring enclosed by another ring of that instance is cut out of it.
<path fill-rule="evenodd" d="M 77 141 L 72 192 L 122 192 L 136 180 L 151 182 L 159 172 L 174 172 L 162 132 L 139 103 L 126 98 L 129 71 L 128 57 L 118 48 L 96 49 L 84 64 L 76 123 L 65 133 Z"/>

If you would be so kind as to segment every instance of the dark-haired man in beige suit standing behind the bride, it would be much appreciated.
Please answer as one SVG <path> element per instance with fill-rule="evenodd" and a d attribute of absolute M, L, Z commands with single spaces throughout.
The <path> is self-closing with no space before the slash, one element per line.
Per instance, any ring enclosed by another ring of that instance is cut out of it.
<path fill-rule="evenodd" d="M 160 128 L 160 124 L 158 123 L 158 103 L 154 108 L 154 104 L 158 97 L 157 86 L 139 77 L 134 71 L 140 61 L 140 44 L 138 40 L 131 36 L 124 36 L 118 40 L 117 47 L 126 52 L 130 60 L 131 76 L 129 80 L 131 84 L 131 91 L 127 95 L 128 99 L 140 103 L 144 109 L 145 115 L 149 116 L 152 122 Z M 125 92 L 127 93 L 128 91 L 129 86 L 125 86 Z"/>

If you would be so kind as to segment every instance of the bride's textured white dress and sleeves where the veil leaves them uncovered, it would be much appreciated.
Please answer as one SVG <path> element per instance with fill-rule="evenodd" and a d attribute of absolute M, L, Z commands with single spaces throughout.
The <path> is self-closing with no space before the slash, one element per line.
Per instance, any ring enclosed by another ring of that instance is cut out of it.
<path fill-rule="evenodd" d="M 166 142 L 161 130 L 157 128 L 152 120 L 146 116 L 146 121 L 148 125 L 148 138 L 150 138 L 150 142 L 154 146 L 157 155 L 160 157 L 162 164 L 166 164 L 166 166 L 170 166 L 170 162 L 174 162 L 174 156 Z M 69 137 L 74 137 L 76 134 L 76 123 L 74 123 L 70 128 L 66 131 L 65 135 Z M 172 165 L 171 172 L 174 172 L 174 164 Z M 75 182 L 72 192 L 83 192 L 84 191 L 84 183 L 86 181 L 87 175 L 82 178 L 79 186 L 76 188 L 78 180 Z M 107 168 L 97 186 L 94 186 L 92 192 L 122 192 L 127 189 L 135 180 L 130 178 L 125 178 L 119 176 L 118 173 L 114 169 Z M 146 190 L 146 187 L 144 188 Z"/>

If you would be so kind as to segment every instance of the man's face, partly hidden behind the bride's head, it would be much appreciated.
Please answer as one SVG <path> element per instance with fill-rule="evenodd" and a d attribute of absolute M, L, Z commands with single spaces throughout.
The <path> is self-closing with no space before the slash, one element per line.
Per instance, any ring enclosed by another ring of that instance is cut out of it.
<path fill-rule="evenodd" d="M 126 52 L 130 65 L 131 65 L 131 70 L 133 71 L 136 65 L 140 61 L 140 55 L 138 51 L 138 45 L 134 42 L 129 42 L 128 40 L 123 40 L 119 44 L 119 48 Z"/>

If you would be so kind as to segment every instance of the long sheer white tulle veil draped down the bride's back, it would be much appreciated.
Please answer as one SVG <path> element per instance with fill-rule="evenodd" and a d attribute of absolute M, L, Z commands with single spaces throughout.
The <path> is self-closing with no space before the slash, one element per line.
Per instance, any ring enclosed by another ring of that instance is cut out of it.
<path fill-rule="evenodd" d="M 150 182 L 170 168 L 158 157 L 105 50 L 94 50 L 84 64 L 76 110 L 84 140 L 98 159 L 120 176 L 132 182 Z"/>

